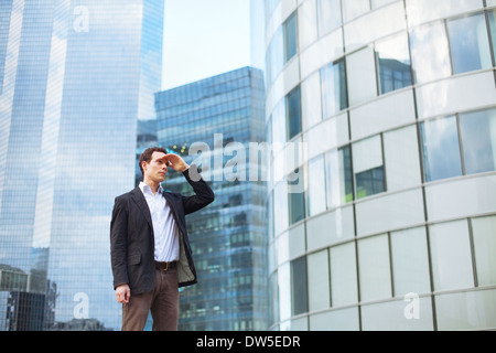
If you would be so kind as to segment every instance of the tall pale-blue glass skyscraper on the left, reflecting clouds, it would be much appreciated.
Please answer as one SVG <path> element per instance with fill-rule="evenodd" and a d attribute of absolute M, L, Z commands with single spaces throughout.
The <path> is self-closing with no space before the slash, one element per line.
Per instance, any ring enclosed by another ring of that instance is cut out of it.
<path fill-rule="evenodd" d="M 154 116 L 163 6 L 0 2 L 0 330 L 120 329 L 109 224 Z"/>

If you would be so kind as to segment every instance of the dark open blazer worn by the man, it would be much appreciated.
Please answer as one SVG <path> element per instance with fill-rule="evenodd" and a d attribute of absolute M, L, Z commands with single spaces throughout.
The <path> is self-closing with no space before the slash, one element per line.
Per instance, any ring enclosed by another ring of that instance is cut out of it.
<path fill-rule="evenodd" d="M 205 207 L 215 197 L 203 179 L 192 180 L 191 170 L 196 170 L 196 165 L 191 165 L 183 175 L 193 186 L 194 195 L 183 196 L 180 193 L 163 192 L 180 231 L 177 261 L 180 287 L 196 284 L 185 215 Z M 128 284 L 131 295 L 153 290 L 155 280 L 153 226 L 147 200 L 139 188 L 116 197 L 110 222 L 110 256 L 114 288 Z"/>

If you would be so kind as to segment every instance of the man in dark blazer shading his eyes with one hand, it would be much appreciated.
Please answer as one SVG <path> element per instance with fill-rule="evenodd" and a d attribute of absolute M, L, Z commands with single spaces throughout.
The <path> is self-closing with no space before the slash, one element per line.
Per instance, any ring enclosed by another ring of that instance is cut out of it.
<path fill-rule="evenodd" d="M 196 165 L 163 148 L 140 157 L 143 181 L 116 197 L 110 252 L 116 299 L 122 303 L 122 331 L 142 331 L 151 311 L 154 331 L 177 330 L 179 287 L 196 284 L 185 215 L 214 201 Z M 168 169 L 183 173 L 195 195 L 164 192 Z M 194 178 L 192 178 L 194 176 Z"/>

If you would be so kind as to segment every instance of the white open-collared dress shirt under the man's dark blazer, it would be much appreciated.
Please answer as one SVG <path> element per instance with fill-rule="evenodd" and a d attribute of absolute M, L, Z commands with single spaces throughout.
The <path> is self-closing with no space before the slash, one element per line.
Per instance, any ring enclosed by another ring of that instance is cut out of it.
<path fill-rule="evenodd" d="M 159 186 L 155 195 L 145 183 L 140 182 L 139 186 L 147 200 L 152 217 L 155 236 L 155 260 L 168 263 L 179 260 L 179 229 L 172 215 L 173 211 L 162 194 L 162 186 Z"/>

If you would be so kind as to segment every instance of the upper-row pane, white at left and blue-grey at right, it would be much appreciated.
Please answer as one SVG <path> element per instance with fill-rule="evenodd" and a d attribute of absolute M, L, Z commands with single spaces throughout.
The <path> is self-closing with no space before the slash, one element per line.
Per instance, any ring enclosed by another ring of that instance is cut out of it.
<path fill-rule="evenodd" d="M 348 106 L 344 60 L 321 69 L 322 106 L 324 119 Z"/>

